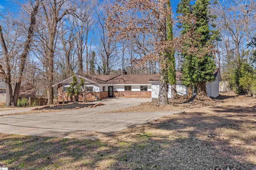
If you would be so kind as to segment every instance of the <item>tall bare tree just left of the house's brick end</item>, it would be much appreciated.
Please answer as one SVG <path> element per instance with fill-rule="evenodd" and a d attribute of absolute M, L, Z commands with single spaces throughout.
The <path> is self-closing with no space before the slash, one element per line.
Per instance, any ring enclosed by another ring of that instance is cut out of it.
<path fill-rule="evenodd" d="M 41 27 L 38 27 L 37 47 L 41 49 L 38 53 L 42 56 L 42 63 L 46 72 L 46 89 L 48 104 L 53 104 L 53 82 L 54 82 L 54 53 L 56 50 L 56 39 L 60 21 L 73 11 L 68 3 L 69 0 L 42 0 L 42 11 L 40 11 Z"/>

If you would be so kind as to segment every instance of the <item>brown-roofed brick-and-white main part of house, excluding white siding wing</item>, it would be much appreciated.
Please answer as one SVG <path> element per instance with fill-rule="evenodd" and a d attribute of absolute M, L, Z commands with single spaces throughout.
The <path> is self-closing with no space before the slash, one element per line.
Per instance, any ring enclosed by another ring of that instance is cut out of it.
<path fill-rule="evenodd" d="M 158 74 L 121 74 L 121 75 L 96 75 L 80 76 L 75 74 L 80 83 L 84 79 L 86 86 L 85 99 L 93 101 L 96 98 L 151 98 L 151 83 L 148 80 L 159 78 Z M 73 76 L 54 84 L 58 88 L 58 101 L 70 101 L 67 96 L 67 88 Z M 76 100 L 83 100 L 83 95 Z"/>

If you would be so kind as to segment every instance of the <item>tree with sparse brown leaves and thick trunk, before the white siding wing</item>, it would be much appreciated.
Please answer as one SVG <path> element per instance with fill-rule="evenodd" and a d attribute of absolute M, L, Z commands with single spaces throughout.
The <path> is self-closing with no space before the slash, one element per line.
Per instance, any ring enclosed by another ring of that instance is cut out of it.
<path fill-rule="evenodd" d="M 108 12 L 107 28 L 110 37 L 117 39 L 130 39 L 140 37 L 138 33 L 148 33 L 152 36 L 154 51 L 144 56 L 146 59 L 154 59 L 160 67 L 160 89 L 157 105 L 166 105 L 167 96 L 167 58 L 164 55 L 166 49 L 170 49 L 172 42 L 167 41 L 166 17 L 171 14 L 170 8 L 166 8 L 166 0 L 138 1 L 117 0 L 111 11 Z M 128 16 L 128 17 L 127 17 Z"/>

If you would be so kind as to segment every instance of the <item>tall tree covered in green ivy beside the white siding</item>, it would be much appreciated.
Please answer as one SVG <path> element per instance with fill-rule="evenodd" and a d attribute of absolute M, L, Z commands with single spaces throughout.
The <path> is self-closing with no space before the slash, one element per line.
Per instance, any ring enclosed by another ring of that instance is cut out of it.
<path fill-rule="evenodd" d="M 210 30 L 209 0 L 180 1 L 177 13 L 181 15 L 182 28 L 182 83 L 188 87 L 196 86 L 198 96 L 206 95 L 206 82 L 214 81 L 214 42 L 218 31 Z"/>

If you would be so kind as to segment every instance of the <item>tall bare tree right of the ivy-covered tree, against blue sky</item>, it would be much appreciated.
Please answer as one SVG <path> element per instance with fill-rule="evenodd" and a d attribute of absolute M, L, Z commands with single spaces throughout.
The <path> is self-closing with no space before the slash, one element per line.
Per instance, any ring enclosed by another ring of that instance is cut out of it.
<path fill-rule="evenodd" d="M 250 12 L 253 8 L 250 0 L 220 0 L 212 8 L 212 13 L 217 16 L 216 25 L 220 30 L 223 41 L 232 39 L 235 46 L 237 66 L 240 67 L 242 56 L 241 47 L 249 42 L 250 33 L 254 34 L 254 15 Z M 248 55 L 246 60 L 248 61 Z"/>

